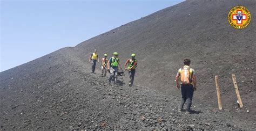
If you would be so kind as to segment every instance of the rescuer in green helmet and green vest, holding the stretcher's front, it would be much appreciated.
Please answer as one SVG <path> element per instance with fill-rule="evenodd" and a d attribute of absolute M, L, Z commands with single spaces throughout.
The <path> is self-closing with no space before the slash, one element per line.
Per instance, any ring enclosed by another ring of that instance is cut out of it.
<path fill-rule="evenodd" d="M 114 77 L 114 84 L 117 82 L 117 71 L 121 65 L 118 59 L 118 53 L 114 52 L 113 56 L 107 62 L 107 70 L 110 71 L 109 83 L 111 83 L 112 78 Z"/>

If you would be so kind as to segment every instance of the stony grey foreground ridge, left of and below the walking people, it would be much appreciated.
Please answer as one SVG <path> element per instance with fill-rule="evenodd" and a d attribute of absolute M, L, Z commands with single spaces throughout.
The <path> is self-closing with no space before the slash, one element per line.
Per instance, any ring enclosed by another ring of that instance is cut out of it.
<path fill-rule="evenodd" d="M 30 65 L 35 76 L 21 71 L 24 64 L 8 79 L 1 77 L 0 129 L 255 129 L 228 110 L 195 103 L 200 110 L 185 114 L 177 111 L 179 97 L 107 84 L 106 77 L 84 71 L 73 48 L 42 58 L 48 61 L 30 62 L 42 65 Z"/>

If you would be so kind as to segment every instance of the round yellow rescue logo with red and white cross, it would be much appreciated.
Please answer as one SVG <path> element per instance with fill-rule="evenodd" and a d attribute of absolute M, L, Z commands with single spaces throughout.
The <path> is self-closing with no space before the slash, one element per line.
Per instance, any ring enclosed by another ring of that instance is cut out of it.
<path fill-rule="evenodd" d="M 228 23 L 234 28 L 245 28 L 251 22 L 251 13 L 245 6 L 234 6 L 227 15 Z"/>

